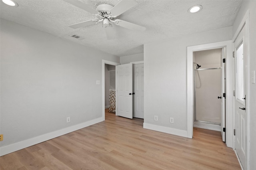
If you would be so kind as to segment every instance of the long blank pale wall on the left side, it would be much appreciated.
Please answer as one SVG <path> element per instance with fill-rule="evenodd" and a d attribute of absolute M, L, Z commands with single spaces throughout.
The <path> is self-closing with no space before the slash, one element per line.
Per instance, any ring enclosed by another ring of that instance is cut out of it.
<path fill-rule="evenodd" d="M 104 120 L 96 80 L 102 79 L 102 59 L 119 57 L 0 22 L 1 155 Z"/>

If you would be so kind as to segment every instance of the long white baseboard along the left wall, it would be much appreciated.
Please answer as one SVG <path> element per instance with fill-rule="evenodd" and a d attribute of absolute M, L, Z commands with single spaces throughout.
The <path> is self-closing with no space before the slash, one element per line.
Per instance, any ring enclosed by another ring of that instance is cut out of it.
<path fill-rule="evenodd" d="M 34 138 L 30 138 L 30 139 L 23 140 L 23 141 L 14 143 L 14 144 L 10 144 L 10 145 L 7 145 L 7 146 L 0 147 L 0 156 L 9 154 L 11 152 L 15 152 L 15 151 L 20 150 L 20 149 L 27 148 L 29 146 L 44 142 L 46 140 L 56 138 L 58 136 L 62 136 L 64 134 L 67 134 L 67 133 L 70 133 L 70 132 L 74 132 L 78 129 L 85 128 L 85 127 L 88 127 L 90 125 L 100 123 L 102 121 L 104 121 L 104 118 L 100 117 L 100 118 L 97 118 L 97 119 L 94 119 L 94 120 L 91 120 L 91 121 L 80 123 L 78 125 L 63 128 L 63 129 L 60 129 L 60 130 L 56 130 L 54 132 L 42 134 L 42 135 L 36 136 Z"/>

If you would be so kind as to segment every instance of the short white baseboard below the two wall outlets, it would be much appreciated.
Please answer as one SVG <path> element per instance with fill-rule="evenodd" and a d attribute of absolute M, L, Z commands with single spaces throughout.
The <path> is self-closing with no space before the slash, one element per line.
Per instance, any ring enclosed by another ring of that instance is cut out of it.
<path fill-rule="evenodd" d="M 147 128 L 150 130 L 156 130 L 156 131 L 164 132 L 164 133 L 168 133 L 168 134 L 174 134 L 174 135 L 182 136 L 182 137 L 186 137 L 186 138 L 188 137 L 188 132 L 186 130 L 162 127 L 162 126 L 152 125 L 152 124 L 148 124 L 148 123 L 143 123 L 143 128 Z"/>

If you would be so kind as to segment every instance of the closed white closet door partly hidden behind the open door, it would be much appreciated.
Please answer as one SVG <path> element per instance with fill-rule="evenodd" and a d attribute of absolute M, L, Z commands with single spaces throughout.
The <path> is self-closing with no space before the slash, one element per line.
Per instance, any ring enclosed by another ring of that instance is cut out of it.
<path fill-rule="evenodd" d="M 144 119 L 144 63 L 133 66 L 133 117 Z"/>

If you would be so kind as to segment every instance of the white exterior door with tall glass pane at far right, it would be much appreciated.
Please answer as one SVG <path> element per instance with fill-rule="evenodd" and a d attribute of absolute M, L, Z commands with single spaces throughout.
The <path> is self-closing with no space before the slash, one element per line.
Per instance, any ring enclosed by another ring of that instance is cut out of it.
<path fill-rule="evenodd" d="M 247 115 L 246 115 L 246 40 L 243 28 L 234 42 L 235 54 L 235 150 L 246 169 L 247 155 Z"/>

